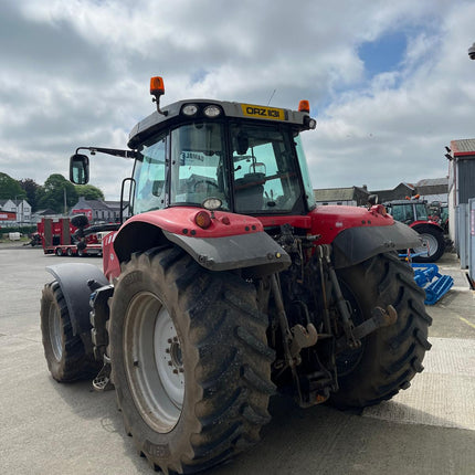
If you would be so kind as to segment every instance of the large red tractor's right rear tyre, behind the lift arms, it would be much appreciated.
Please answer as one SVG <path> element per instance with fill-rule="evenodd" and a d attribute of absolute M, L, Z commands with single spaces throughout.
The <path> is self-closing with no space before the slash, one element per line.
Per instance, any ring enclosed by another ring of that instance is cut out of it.
<path fill-rule="evenodd" d="M 376 306 L 392 305 L 395 324 L 362 339 L 360 349 L 337 356 L 339 391 L 330 402 L 340 408 L 363 408 L 389 400 L 410 387 L 431 348 L 424 291 L 414 282 L 412 268 L 394 254 L 379 254 L 339 271 L 344 294 L 356 315 L 355 325 L 370 318 Z"/>

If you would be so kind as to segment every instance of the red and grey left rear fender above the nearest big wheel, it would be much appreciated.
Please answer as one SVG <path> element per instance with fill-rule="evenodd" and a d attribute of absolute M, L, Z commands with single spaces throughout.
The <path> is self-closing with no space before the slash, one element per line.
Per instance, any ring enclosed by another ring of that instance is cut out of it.
<path fill-rule="evenodd" d="M 211 225 L 201 229 L 194 217 L 202 211 L 180 207 L 133 217 L 114 240 L 119 262 L 128 261 L 134 252 L 172 242 L 210 271 L 247 267 L 251 275 L 265 275 L 291 265 L 288 254 L 264 232 L 257 219 L 215 211 Z"/>

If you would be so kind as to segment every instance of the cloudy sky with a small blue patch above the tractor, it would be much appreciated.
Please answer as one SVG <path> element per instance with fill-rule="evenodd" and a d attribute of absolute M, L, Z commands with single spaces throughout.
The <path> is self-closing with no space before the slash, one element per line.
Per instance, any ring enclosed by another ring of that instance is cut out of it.
<path fill-rule="evenodd" d="M 296 108 L 314 188 L 393 188 L 447 173 L 475 137 L 473 0 L 1 0 L 0 171 L 67 177 L 78 146 L 126 146 L 162 104 L 210 97 Z M 130 162 L 97 155 L 118 199 Z"/>

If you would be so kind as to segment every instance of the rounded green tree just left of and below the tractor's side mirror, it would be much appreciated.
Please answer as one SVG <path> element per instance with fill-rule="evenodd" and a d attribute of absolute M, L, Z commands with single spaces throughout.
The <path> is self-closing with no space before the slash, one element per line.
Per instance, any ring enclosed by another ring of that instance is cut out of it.
<path fill-rule="evenodd" d="M 53 173 L 48 177 L 44 186 L 38 189 L 36 199 L 38 209 L 51 208 L 56 213 L 62 213 L 64 200 L 67 208 L 77 203 L 77 192 L 74 184 L 62 175 Z"/>

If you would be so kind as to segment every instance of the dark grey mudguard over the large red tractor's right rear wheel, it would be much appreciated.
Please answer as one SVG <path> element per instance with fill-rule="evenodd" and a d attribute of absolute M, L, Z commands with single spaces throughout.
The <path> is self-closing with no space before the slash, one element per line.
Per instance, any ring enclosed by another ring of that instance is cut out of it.
<path fill-rule="evenodd" d="M 348 228 L 331 244 L 335 268 L 341 268 L 383 252 L 418 247 L 421 245 L 421 238 L 408 225 L 394 221 L 386 226 Z"/>

